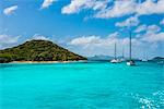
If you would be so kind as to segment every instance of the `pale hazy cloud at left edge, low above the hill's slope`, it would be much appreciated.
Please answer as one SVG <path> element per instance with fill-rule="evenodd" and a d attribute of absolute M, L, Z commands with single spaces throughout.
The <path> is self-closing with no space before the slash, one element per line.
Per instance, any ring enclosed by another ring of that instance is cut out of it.
<path fill-rule="evenodd" d="M 0 49 L 10 47 L 19 41 L 20 36 L 0 35 Z"/>

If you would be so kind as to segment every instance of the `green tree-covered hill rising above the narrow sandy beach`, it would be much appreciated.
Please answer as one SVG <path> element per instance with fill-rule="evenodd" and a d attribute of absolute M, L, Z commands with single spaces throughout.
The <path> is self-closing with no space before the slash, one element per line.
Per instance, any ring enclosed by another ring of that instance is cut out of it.
<path fill-rule="evenodd" d="M 86 60 L 48 40 L 31 40 L 0 50 L 0 63 L 11 61 L 73 61 Z"/>

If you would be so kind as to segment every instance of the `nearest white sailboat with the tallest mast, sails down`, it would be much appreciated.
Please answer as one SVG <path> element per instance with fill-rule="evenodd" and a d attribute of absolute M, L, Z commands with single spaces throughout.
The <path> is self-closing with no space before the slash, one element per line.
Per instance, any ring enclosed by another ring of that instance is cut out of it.
<path fill-rule="evenodd" d="M 131 59 L 131 31 L 129 35 L 129 61 L 127 62 L 127 65 L 136 65 L 134 61 Z"/>

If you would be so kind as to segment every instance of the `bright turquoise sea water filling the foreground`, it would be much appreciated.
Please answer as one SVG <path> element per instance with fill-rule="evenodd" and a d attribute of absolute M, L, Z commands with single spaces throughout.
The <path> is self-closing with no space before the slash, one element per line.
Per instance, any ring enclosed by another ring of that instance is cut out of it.
<path fill-rule="evenodd" d="M 164 109 L 164 66 L 137 64 L 0 64 L 0 109 Z"/>

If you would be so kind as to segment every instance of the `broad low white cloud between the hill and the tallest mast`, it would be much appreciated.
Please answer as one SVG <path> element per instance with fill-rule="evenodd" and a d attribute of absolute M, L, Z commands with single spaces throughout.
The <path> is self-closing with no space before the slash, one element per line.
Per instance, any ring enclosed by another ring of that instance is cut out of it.
<path fill-rule="evenodd" d="M 128 38 L 120 39 L 118 38 L 118 33 L 113 33 L 108 35 L 105 38 L 102 38 L 101 36 L 82 36 L 72 39 L 69 43 L 69 46 L 71 46 L 71 50 L 73 50 L 73 47 L 75 48 L 75 52 L 80 55 L 85 56 L 94 56 L 94 55 L 108 55 L 112 56 L 114 52 L 114 43 L 117 41 L 119 46 L 127 45 Z M 122 49 L 119 47 L 120 49 Z M 82 50 L 79 50 L 82 49 Z"/>

